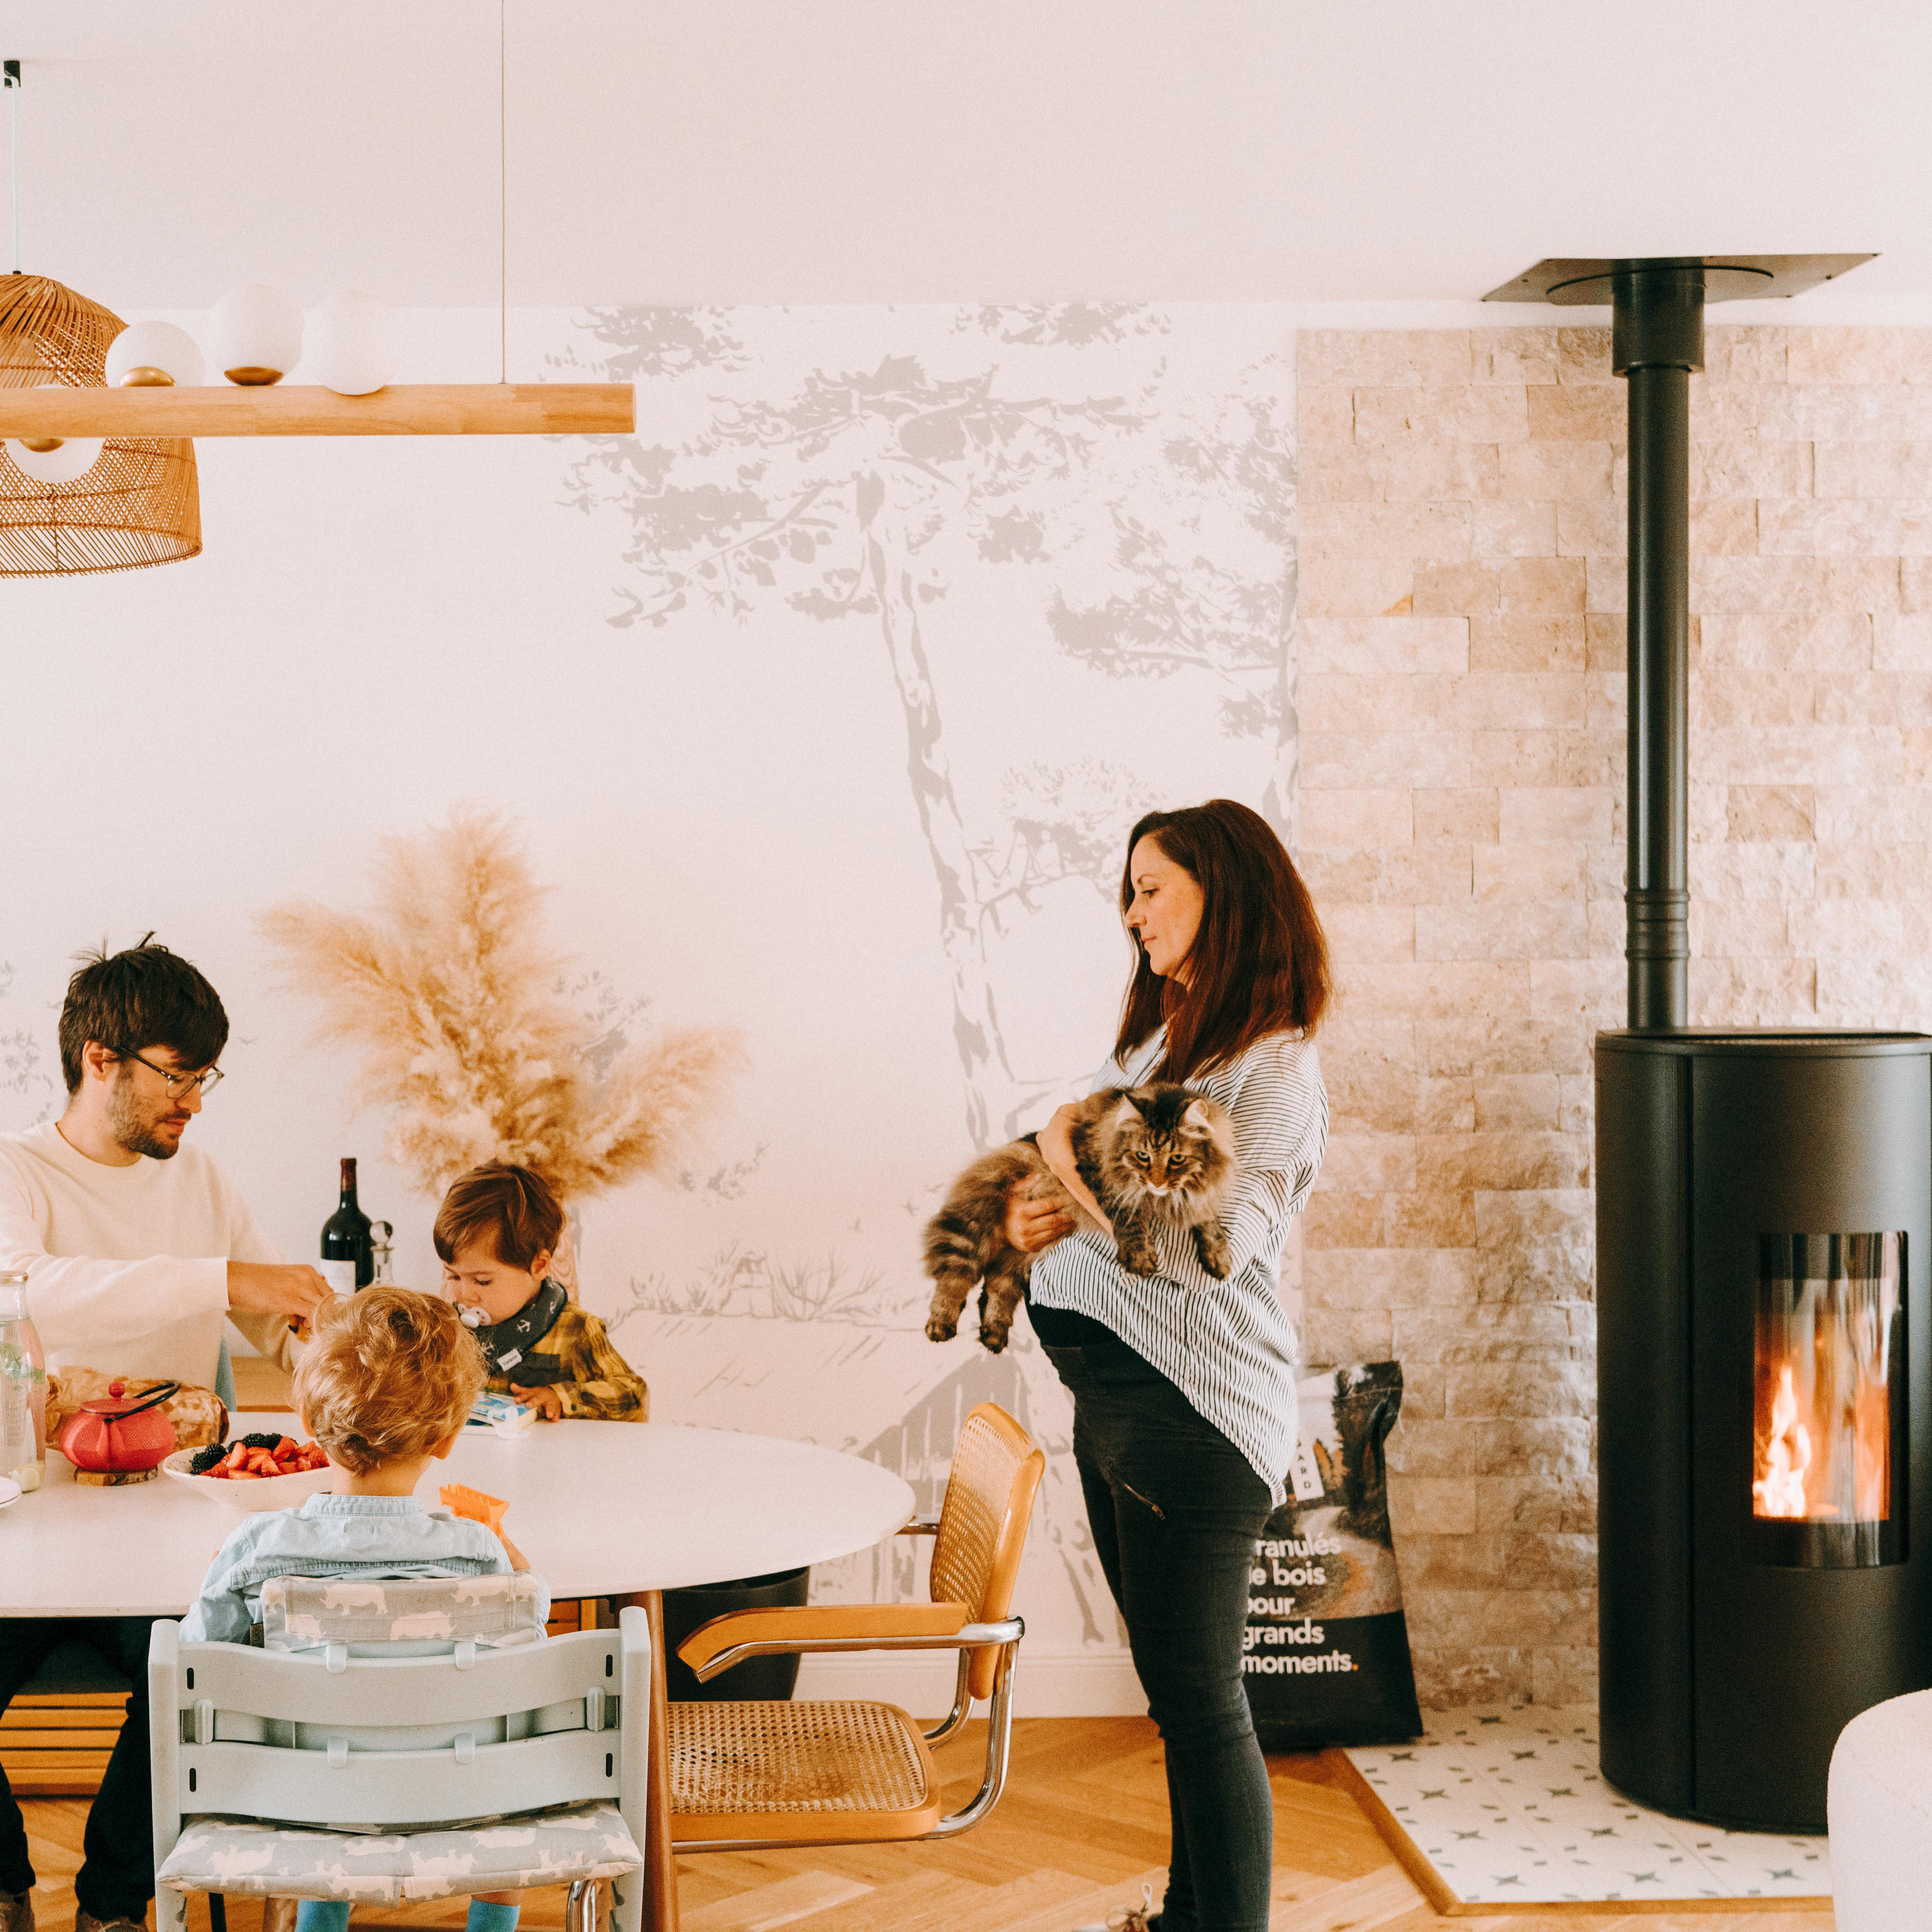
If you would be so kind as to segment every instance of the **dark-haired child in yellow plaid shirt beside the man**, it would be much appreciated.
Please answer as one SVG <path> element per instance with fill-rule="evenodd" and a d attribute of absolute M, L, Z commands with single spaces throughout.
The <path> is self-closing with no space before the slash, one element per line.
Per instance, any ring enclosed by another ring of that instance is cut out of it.
<path fill-rule="evenodd" d="M 643 1378 L 547 1273 L 562 1233 L 562 1202 L 541 1175 L 510 1161 L 471 1167 L 437 1209 L 442 1293 L 475 1329 L 497 1395 L 514 1395 L 539 1422 L 645 1422 Z"/>

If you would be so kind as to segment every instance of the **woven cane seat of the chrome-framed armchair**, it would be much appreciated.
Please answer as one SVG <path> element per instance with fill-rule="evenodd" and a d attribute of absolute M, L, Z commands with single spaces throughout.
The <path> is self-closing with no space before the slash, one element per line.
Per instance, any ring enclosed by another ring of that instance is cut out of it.
<path fill-rule="evenodd" d="M 939 1774 L 896 1704 L 672 1704 L 670 1835 L 802 1841 L 920 1837 Z"/>

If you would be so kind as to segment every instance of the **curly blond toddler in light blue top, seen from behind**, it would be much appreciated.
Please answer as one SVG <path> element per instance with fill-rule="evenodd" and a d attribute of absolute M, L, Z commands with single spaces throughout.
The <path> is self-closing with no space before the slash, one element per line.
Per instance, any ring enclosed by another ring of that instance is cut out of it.
<path fill-rule="evenodd" d="M 274 1577 L 500 1577 L 495 1532 L 423 1509 L 415 1486 L 462 1435 L 483 1356 L 456 1310 L 410 1289 L 336 1296 L 296 1370 L 296 1410 L 334 1466 L 334 1490 L 234 1530 L 182 1619 L 182 1642 L 247 1642 Z M 537 1615 L 549 1592 L 537 1588 Z M 469 1932 L 510 1932 L 522 1893 L 479 1893 Z M 303 1899 L 298 1932 L 348 1932 L 346 1903 Z"/>

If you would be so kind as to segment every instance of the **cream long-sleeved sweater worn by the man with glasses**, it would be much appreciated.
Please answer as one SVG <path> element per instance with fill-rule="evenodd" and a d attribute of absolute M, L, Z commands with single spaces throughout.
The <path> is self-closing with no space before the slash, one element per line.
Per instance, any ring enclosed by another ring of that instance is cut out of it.
<path fill-rule="evenodd" d="M 282 1260 L 201 1148 L 106 1167 L 70 1148 L 52 1121 L 0 1134 L 0 1271 L 25 1269 L 48 1368 L 174 1376 L 209 1389 L 228 1264 Z M 286 1360 L 282 1316 L 238 1316 L 236 1325 Z"/>

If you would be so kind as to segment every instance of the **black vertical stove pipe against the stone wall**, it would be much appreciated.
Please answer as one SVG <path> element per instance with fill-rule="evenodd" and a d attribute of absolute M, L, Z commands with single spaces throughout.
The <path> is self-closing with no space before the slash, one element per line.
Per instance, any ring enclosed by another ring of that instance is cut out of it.
<path fill-rule="evenodd" d="M 1619 265 L 1611 367 L 1631 386 L 1631 1028 L 1689 1020 L 1690 373 L 1704 367 L 1704 270 Z"/>

